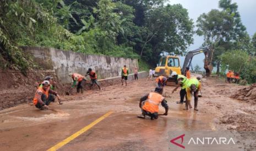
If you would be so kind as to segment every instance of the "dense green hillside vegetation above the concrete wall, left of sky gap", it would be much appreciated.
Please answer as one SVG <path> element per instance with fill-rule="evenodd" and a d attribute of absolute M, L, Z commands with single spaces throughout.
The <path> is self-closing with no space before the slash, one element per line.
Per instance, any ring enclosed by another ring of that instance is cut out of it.
<path fill-rule="evenodd" d="M 1 1 L 1 66 L 26 69 L 32 65 L 19 51 L 20 45 L 132 57 L 155 66 L 163 50 L 182 55 L 193 43 L 193 22 L 187 10 L 164 2 Z"/>

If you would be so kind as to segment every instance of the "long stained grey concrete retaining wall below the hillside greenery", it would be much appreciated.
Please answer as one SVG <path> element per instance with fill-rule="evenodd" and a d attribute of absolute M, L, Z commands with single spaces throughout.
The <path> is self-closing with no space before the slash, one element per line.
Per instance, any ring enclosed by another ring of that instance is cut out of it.
<path fill-rule="evenodd" d="M 30 53 L 45 69 L 55 70 L 61 83 L 70 83 L 70 72 L 84 75 L 88 68 L 96 71 L 98 79 L 121 75 L 121 68 L 127 65 L 130 73 L 138 67 L 137 59 L 110 57 L 105 55 L 85 55 L 73 51 L 63 51 L 54 48 L 21 47 L 25 53 Z M 89 77 L 88 77 L 89 78 Z"/>

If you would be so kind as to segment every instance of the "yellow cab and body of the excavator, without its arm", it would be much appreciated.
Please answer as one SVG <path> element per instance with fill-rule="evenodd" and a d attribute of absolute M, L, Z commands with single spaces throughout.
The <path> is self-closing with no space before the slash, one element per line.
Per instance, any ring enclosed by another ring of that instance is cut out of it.
<path fill-rule="evenodd" d="M 179 63 L 178 56 L 162 56 L 157 67 L 155 68 L 155 77 L 164 75 L 167 78 L 167 85 L 177 84 L 177 79 L 172 78 L 171 74 L 176 71 L 177 74 L 181 74 L 181 65 Z"/>

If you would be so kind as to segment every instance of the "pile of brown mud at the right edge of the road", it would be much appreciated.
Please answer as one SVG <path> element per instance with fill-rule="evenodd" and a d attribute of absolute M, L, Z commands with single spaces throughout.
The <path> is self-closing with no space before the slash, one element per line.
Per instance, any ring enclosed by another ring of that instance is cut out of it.
<path fill-rule="evenodd" d="M 256 83 L 236 91 L 231 98 L 256 104 Z"/>

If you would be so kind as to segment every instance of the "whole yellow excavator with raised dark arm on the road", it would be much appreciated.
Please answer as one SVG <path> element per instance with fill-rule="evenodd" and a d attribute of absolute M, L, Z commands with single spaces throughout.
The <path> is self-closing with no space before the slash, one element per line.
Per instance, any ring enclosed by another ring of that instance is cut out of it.
<path fill-rule="evenodd" d="M 206 76 L 209 77 L 211 71 L 213 70 L 213 66 L 211 62 L 213 60 L 214 49 L 210 46 L 202 47 L 193 51 L 189 51 L 185 57 L 183 67 L 180 66 L 180 61 L 178 56 L 168 55 L 162 56 L 157 67 L 155 68 L 155 77 L 159 77 L 160 75 L 164 75 L 167 77 L 166 85 L 176 85 L 178 84 L 177 79 L 171 77 L 171 73 L 173 71 L 177 72 L 177 74 L 184 74 L 186 72 L 186 67 L 191 66 L 191 62 L 194 55 L 204 53 L 204 69 Z"/>

